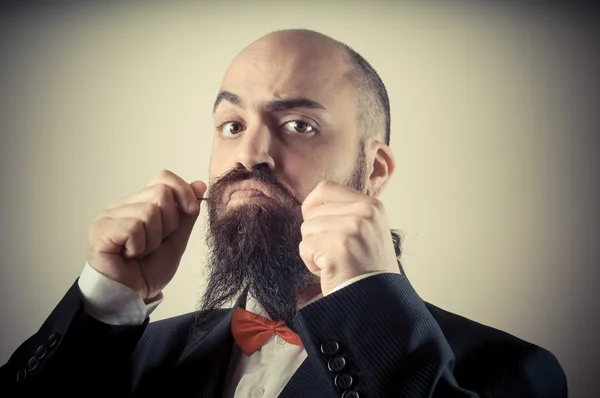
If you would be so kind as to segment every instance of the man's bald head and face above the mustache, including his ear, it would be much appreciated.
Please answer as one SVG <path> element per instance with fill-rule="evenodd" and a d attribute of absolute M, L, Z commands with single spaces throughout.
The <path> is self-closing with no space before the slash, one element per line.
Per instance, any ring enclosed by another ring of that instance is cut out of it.
<path fill-rule="evenodd" d="M 273 32 L 244 48 L 213 118 L 214 176 L 265 164 L 302 200 L 325 179 L 379 193 L 393 170 L 383 83 L 360 55 L 317 32 Z"/>

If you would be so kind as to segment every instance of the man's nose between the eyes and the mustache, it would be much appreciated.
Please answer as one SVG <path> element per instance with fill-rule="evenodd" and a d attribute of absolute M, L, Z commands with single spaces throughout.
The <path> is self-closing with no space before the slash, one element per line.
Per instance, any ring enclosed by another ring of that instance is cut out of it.
<path fill-rule="evenodd" d="M 275 160 L 271 156 L 272 151 L 273 137 L 267 126 L 248 128 L 236 150 L 235 168 L 252 170 L 257 164 L 265 164 L 273 171 Z"/>

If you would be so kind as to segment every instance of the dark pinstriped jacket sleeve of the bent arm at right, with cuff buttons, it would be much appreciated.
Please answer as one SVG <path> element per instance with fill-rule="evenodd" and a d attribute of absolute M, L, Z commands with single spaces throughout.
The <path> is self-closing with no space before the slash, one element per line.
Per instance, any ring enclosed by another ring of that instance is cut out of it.
<path fill-rule="evenodd" d="M 317 300 L 298 311 L 294 327 L 332 397 L 567 396 L 556 358 L 516 338 L 507 340 L 510 355 L 467 352 L 465 362 L 480 363 L 461 363 L 459 379 L 440 325 L 400 274 L 375 275 Z M 480 349 L 486 345 L 473 345 Z"/>

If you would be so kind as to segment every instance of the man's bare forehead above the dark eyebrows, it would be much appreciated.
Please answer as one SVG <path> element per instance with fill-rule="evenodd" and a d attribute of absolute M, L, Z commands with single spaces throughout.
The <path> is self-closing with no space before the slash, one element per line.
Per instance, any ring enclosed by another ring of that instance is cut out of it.
<path fill-rule="evenodd" d="M 250 104 L 301 97 L 332 111 L 353 109 L 348 107 L 355 95 L 343 54 L 304 42 L 267 42 L 245 49 L 225 73 L 223 90 Z"/>

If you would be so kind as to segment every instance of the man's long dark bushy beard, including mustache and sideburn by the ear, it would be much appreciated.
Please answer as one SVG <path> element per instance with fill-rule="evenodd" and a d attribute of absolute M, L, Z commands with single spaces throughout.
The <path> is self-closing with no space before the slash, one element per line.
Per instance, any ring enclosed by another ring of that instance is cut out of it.
<path fill-rule="evenodd" d="M 367 170 L 364 150 L 349 177 L 337 181 L 359 192 Z M 270 189 L 273 200 L 245 201 L 232 208 L 222 205 L 231 184 L 253 180 Z M 302 203 L 270 171 L 266 164 L 252 170 L 233 169 L 210 188 L 208 205 L 208 281 L 194 323 L 194 334 L 204 330 L 216 309 L 248 292 L 273 320 L 294 330 L 298 295 L 318 283 L 300 257 Z"/>

